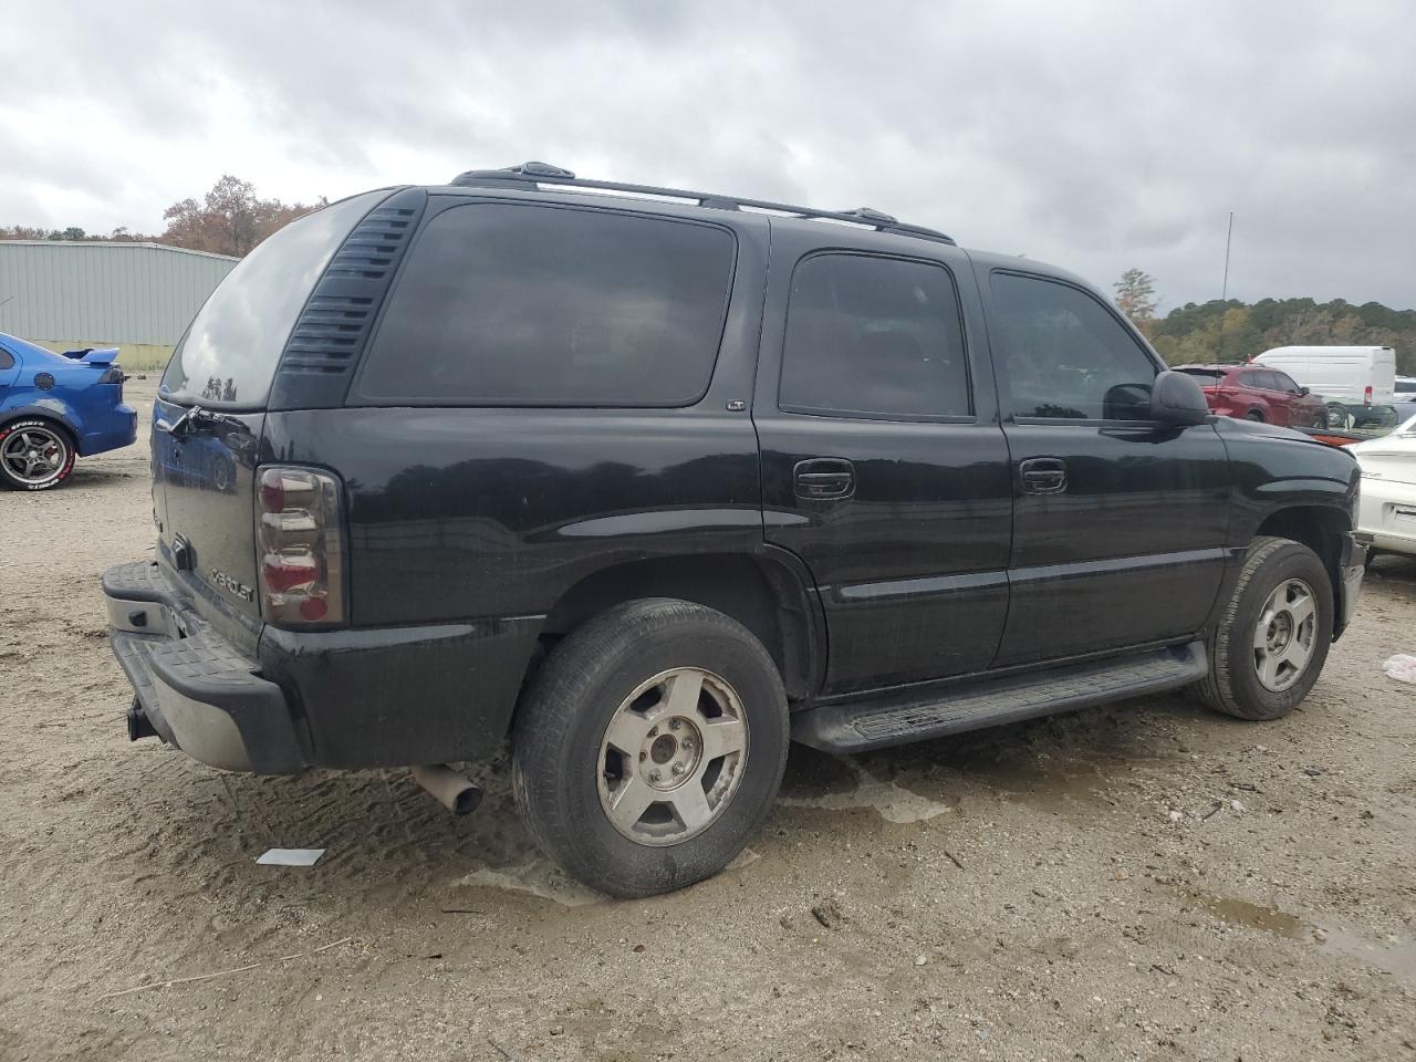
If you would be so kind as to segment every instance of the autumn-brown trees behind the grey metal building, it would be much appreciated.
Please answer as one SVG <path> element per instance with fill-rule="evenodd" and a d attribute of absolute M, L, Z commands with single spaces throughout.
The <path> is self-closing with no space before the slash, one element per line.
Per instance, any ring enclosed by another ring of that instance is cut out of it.
<path fill-rule="evenodd" d="M 163 211 L 163 221 L 167 222 L 167 227 L 156 235 L 129 232 L 127 228 L 116 228 L 105 236 L 85 232 L 72 225 L 62 229 L 0 225 L 0 239 L 153 242 L 241 258 L 282 225 L 287 225 L 326 202 L 323 195 L 313 204 L 263 200 L 256 195 L 256 188 L 251 181 L 225 174 L 200 200 L 188 197 Z"/>

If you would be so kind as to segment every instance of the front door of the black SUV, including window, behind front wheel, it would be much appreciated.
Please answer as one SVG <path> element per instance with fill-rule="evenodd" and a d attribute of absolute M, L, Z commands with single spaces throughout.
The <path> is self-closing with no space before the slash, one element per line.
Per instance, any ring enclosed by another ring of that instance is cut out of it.
<path fill-rule="evenodd" d="M 1014 470 L 995 664 L 1182 639 L 1223 576 L 1229 469 L 1212 425 L 1150 421 L 1163 365 L 1090 292 L 1024 272 L 990 293 Z"/>

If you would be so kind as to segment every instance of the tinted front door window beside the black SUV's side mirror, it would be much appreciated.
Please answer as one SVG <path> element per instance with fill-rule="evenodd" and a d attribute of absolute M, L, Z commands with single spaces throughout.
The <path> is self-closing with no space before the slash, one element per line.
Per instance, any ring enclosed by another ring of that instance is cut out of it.
<path fill-rule="evenodd" d="M 1155 364 L 1090 295 L 1052 280 L 993 275 L 1017 416 L 1144 421 Z"/>

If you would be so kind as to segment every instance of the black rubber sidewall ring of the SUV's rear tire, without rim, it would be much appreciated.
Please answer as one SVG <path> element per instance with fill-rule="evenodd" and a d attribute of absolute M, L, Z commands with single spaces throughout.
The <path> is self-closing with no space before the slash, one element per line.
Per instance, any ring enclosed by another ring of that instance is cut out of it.
<path fill-rule="evenodd" d="M 564 779 L 555 787 L 559 806 L 535 811 L 566 824 L 568 851 L 554 855 L 578 878 L 624 896 L 692 884 L 722 869 L 770 811 L 786 763 L 786 695 L 766 650 L 746 630 L 736 634 L 735 626 L 685 616 L 637 637 L 617 639 L 578 698 L 564 733 L 518 735 L 520 762 L 525 763 L 523 756 L 549 755 Z M 600 743 L 624 698 L 675 667 L 702 668 L 733 688 L 746 716 L 748 758 L 728 807 L 702 833 L 675 844 L 646 845 L 624 837 L 605 814 L 598 789 Z M 554 742 L 549 748 L 547 738 Z"/>

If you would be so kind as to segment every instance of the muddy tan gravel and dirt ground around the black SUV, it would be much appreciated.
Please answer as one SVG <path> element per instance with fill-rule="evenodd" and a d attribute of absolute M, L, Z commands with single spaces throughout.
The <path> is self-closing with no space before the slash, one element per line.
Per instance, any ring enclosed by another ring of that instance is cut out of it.
<path fill-rule="evenodd" d="M 130 745 L 98 576 L 152 548 L 144 442 L 0 528 L 6 1061 L 1416 1058 L 1416 687 L 1381 671 L 1416 565 L 1376 565 L 1287 719 L 799 748 L 729 871 L 610 902 L 531 850 L 500 762 L 453 818 L 404 772 Z"/>

